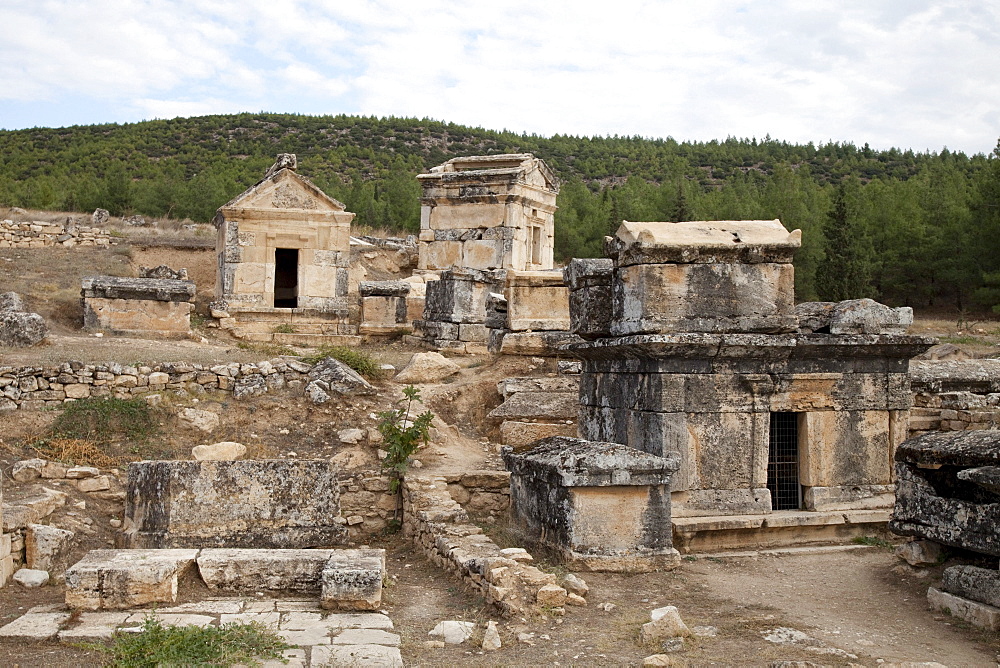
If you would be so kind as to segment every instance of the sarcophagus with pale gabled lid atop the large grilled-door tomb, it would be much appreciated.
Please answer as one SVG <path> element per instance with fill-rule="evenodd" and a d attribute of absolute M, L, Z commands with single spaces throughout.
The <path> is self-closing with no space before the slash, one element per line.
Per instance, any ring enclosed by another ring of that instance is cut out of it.
<path fill-rule="evenodd" d="M 795 331 L 800 244 L 777 220 L 625 221 L 607 244 L 611 333 Z"/>

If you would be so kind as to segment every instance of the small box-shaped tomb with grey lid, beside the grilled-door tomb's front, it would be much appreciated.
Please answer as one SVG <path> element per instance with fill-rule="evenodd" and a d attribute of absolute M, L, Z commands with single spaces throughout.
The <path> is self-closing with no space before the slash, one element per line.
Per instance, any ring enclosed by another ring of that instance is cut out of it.
<path fill-rule="evenodd" d="M 643 572 L 680 563 L 670 524 L 676 453 L 553 436 L 523 453 L 505 447 L 503 459 L 514 521 L 571 565 Z"/>

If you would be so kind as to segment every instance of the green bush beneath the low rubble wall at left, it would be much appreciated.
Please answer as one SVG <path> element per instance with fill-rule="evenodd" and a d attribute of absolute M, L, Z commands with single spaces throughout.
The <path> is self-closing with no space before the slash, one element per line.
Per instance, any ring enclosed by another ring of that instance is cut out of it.
<path fill-rule="evenodd" d="M 58 438 L 110 443 L 116 439 L 144 440 L 159 428 L 152 408 L 143 399 L 90 397 L 64 404 L 52 423 Z"/>

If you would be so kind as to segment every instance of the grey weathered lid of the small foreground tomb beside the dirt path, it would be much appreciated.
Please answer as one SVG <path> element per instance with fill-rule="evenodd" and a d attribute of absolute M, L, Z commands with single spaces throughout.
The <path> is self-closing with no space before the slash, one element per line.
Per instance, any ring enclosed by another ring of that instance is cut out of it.
<path fill-rule="evenodd" d="M 544 478 L 563 487 L 669 485 L 680 466 L 674 453 L 651 455 L 620 443 L 601 443 L 566 436 L 539 441 L 531 450 L 503 449 L 512 476 Z"/>

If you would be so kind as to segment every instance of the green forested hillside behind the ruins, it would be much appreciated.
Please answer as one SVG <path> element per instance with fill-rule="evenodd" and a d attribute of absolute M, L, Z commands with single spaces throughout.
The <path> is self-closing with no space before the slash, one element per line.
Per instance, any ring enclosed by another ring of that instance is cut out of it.
<path fill-rule="evenodd" d="M 280 152 L 358 214 L 415 230 L 414 175 L 527 151 L 562 181 L 557 252 L 594 256 L 623 220 L 780 218 L 801 228 L 800 300 L 1000 304 L 1000 147 L 990 156 L 763 139 L 539 137 L 404 118 L 237 114 L 0 131 L 0 204 L 210 220 Z"/>

